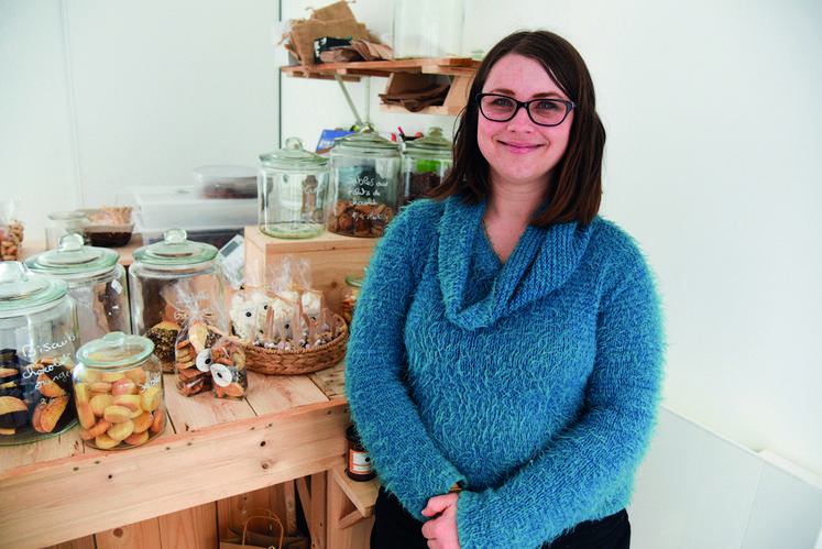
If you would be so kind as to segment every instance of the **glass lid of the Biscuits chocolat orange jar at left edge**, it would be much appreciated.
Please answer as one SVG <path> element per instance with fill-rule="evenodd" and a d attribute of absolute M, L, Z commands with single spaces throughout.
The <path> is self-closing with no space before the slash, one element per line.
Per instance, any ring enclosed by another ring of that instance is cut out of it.
<path fill-rule="evenodd" d="M 32 273 L 18 261 L 0 262 L 0 314 L 24 312 L 63 298 L 68 283 Z"/>

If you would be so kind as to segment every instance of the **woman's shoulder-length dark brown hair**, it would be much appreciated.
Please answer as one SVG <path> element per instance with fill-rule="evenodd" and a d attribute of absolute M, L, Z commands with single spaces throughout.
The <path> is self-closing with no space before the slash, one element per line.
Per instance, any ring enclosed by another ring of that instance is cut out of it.
<path fill-rule="evenodd" d="M 576 103 L 568 149 L 555 168 L 559 174 L 549 189 L 548 205 L 531 221 L 535 227 L 578 221 L 590 223 L 602 198 L 602 156 L 605 129 L 596 114 L 593 81 L 585 62 L 561 36 L 548 31 L 523 31 L 500 41 L 485 56 L 471 86 L 453 140 L 453 166 L 431 196 L 445 199 L 462 195 L 478 204 L 491 189 L 489 164 L 480 152 L 476 130 L 480 109 L 476 94 L 491 68 L 504 56 L 517 54 L 537 61 L 559 88 Z"/>

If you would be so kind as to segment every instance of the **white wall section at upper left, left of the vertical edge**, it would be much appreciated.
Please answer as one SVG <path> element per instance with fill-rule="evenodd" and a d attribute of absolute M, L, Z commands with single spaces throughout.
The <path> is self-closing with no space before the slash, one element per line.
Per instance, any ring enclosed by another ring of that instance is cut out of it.
<path fill-rule="evenodd" d="M 0 188 L 26 234 L 278 147 L 277 19 L 276 0 L 0 0 Z"/>

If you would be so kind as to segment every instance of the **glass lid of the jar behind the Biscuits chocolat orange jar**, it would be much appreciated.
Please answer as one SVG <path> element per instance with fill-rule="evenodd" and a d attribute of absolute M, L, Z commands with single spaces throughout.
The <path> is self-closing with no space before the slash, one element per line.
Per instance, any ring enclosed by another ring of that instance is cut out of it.
<path fill-rule="evenodd" d="M 88 274 L 110 271 L 120 260 L 120 254 L 106 248 L 87 246 L 77 233 L 64 234 L 54 250 L 48 250 L 25 260 L 32 271 L 54 276 Z"/>

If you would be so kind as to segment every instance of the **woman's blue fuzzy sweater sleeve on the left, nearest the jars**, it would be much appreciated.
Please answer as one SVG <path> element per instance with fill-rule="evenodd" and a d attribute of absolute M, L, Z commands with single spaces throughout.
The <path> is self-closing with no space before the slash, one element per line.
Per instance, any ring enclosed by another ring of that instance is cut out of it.
<path fill-rule="evenodd" d="M 463 475 L 429 437 L 403 383 L 406 314 L 434 238 L 434 207 L 412 204 L 371 257 L 346 354 L 346 393 L 383 486 L 418 518 Z"/>

